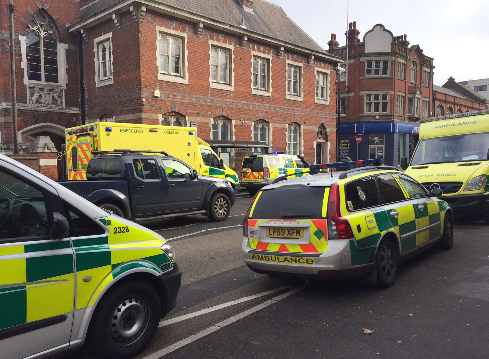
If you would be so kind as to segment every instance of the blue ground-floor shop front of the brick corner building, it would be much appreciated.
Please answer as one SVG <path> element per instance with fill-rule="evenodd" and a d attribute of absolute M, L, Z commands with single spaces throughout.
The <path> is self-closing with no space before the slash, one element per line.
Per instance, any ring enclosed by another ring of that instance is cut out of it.
<path fill-rule="evenodd" d="M 400 159 L 413 155 L 420 124 L 396 120 L 348 121 L 341 124 L 340 161 L 382 159 L 400 168 Z M 356 138 L 361 138 L 357 143 Z"/>

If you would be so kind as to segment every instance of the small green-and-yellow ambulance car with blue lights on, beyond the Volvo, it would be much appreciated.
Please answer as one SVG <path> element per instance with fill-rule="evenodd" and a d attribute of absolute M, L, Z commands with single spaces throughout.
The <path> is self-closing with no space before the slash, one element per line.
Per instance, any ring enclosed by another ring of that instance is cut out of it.
<path fill-rule="evenodd" d="M 255 194 L 277 178 L 302 177 L 304 168 L 309 168 L 303 156 L 272 152 L 263 155 L 245 156 L 241 165 L 241 187 Z"/>

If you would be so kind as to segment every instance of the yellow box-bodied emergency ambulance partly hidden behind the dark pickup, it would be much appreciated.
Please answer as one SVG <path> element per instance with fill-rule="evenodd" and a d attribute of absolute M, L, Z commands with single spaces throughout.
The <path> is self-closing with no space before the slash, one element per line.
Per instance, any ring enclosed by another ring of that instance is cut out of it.
<path fill-rule="evenodd" d="M 195 127 L 94 122 L 67 128 L 65 133 L 68 180 L 86 179 L 91 151 L 130 148 L 164 150 L 202 175 L 226 178 L 235 189 L 239 185 L 236 172 L 225 167 L 212 148 L 197 137 Z"/>

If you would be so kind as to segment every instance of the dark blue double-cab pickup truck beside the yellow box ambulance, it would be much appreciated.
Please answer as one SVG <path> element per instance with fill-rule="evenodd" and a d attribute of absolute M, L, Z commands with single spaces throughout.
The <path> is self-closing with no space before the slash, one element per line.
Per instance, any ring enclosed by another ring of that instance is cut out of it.
<path fill-rule="evenodd" d="M 227 180 L 201 176 L 165 152 L 105 152 L 90 160 L 87 180 L 58 183 L 134 221 L 199 214 L 222 221 L 236 200 Z"/>

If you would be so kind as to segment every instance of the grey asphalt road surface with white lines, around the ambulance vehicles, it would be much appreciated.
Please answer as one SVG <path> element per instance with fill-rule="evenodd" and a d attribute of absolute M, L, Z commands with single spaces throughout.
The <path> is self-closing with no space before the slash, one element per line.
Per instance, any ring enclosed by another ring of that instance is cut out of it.
<path fill-rule="evenodd" d="M 177 307 L 137 359 L 489 357 L 482 222 L 457 221 L 454 247 L 404 263 L 390 288 L 271 279 L 249 270 L 241 255 L 251 198 L 239 196 L 224 222 L 189 216 L 142 223 L 175 247 L 183 276 Z"/>

